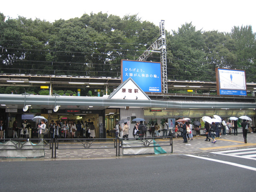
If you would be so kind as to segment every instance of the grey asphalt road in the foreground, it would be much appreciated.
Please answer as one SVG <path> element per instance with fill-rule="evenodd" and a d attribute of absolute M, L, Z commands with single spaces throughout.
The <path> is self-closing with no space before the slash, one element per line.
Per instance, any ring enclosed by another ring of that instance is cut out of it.
<path fill-rule="evenodd" d="M 255 191 L 256 159 L 208 152 L 192 155 L 48 161 L 5 160 L 0 162 L 0 191 Z"/>

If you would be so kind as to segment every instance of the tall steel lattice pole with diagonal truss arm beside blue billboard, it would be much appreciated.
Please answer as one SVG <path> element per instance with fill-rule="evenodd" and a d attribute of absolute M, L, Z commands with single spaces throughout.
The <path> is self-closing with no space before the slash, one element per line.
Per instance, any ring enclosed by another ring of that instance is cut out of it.
<path fill-rule="evenodd" d="M 139 61 L 146 61 L 148 56 L 152 53 L 160 53 L 161 66 L 162 66 L 162 92 L 167 93 L 167 59 L 166 59 L 166 36 L 164 29 L 164 20 L 161 20 L 160 24 L 160 36 L 158 39 L 137 59 Z"/>

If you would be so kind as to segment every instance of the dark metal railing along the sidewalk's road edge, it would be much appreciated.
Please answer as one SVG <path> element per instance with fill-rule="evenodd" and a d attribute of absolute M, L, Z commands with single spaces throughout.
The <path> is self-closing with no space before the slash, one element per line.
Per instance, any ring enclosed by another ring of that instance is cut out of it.
<path fill-rule="evenodd" d="M 167 138 L 167 139 L 164 139 Z M 173 143 L 172 143 L 172 137 L 147 137 L 147 138 L 128 138 L 129 140 L 140 140 L 141 146 L 132 146 L 133 144 L 130 144 L 128 146 L 127 144 L 123 143 L 123 140 L 126 140 L 127 138 L 76 138 L 76 139 L 66 139 L 66 138 L 60 138 L 60 139 L 1 139 L 0 142 L 7 142 L 12 141 L 12 147 L 15 146 L 15 148 L 11 149 L 3 149 L 0 148 L 0 150 L 42 150 L 42 148 L 23 148 L 25 146 L 26 142 L 30 141 L 33 144 L 36 144 L 37 146 L 43 146 L 44 150 L 51 150 L 51 158 L 57 158 L 57 150 L 90 150 L 90 149 L 116 149 L 116 156 L 120 156 L 120 151 L 122 148 L 142 148 L 142 147 L 156 147 L 154 145 L 153 140 L 157 140 L 157 146 L 164 147 L 164 146 L 171 146 L 171 153 L 173 152 Z M 159 139 L 159 140 L 158 140 Z M 16 141 L 16 142 L 14 142 Z M 48 144 L 39 144 L 41 141 L 48 142 Z M 5 145 L 9 146 L 9 145 Z"/>

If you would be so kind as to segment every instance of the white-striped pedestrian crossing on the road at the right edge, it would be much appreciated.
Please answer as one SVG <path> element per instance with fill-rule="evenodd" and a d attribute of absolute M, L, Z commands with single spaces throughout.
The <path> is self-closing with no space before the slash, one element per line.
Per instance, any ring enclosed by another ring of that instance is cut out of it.
<path fill-rule="evenodd" d="M 220 152 L 210 152 L 212 154 L 226 155 L 238 158 L 245 158 L 256 160 L 256 148 L 245 148 L 245 149 L 237 149 L 237 150 L 226 150 Z"/>

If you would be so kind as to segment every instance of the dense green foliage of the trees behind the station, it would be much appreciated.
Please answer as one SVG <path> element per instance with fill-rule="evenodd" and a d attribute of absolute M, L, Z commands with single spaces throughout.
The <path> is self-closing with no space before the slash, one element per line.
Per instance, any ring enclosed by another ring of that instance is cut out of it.
<path fill-rule="evenodd" d="M 136 60 L 158 36 L 159 27 L 137 15 L 99 12 L 50 23 L 0 13 L 0 73 L 119 77 L 120 60 Z M 166 39 L 168 79 L 215 81 L 220 67 L 246 70 L 247 82 L 256 82 L 252 26 L 223 33 L 186 23 Z"/>

